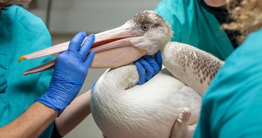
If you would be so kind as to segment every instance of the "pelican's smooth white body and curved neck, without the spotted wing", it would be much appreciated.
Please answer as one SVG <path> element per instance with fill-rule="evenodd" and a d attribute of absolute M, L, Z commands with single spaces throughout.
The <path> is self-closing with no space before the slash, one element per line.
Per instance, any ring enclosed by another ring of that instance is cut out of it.
<path fill-rule="evenodd" d="M 184 107 L 192 112 L 189 124 L 197 122 L 201 96 L 167 69 L 144 85 L 135 86 L 137 81 L 133 64 L 109 69 L 97 81 L 91 94 L 91 111 L 106 136 L 168 138 Z"/>

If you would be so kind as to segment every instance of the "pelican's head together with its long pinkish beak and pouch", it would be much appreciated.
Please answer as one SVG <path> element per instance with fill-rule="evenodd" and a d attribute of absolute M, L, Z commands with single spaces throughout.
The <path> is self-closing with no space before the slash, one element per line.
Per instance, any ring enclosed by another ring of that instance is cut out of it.
<path fill-rule="evenodd" d="M 153 55 L 171 41 L 170 24 L 154 11 L 136 14 L 124 25 L 95 34 L 90 51 L 95 52 L 91 68 L 116 68 L 143 55 Z M 24 55 L 19 59 L 35 59 L 68 49 L 69 42 Z"/>

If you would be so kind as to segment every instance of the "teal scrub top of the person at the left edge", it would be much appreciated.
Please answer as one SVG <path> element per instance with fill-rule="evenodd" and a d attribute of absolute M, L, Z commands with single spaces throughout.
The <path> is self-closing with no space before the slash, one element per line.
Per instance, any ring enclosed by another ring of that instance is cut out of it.
<path fill-rule="evenodd" d="M 43 21 L 20 6 L 2 10 L 0 15 L 0 127 L 20 116 L 49 85 L 52 71 L 23 76 L 22 73 L 53 59 L 47 56 L 25 60 L 20 56 L 51 46 Z M 39 112 L 41 114 L 41 112 Z M 53 123 L 40 137 L 51 136 Z"/>

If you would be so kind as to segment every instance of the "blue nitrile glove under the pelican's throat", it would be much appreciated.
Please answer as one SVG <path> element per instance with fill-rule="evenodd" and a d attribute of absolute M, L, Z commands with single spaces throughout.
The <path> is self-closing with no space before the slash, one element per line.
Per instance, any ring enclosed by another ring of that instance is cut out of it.
<path fill-rule="evenodd" d="M 155 54 L 155 59 L 150 55 L 144 55 L 134 62 L 139 75 L 138 85 L 144 84 L 162 69 L 162 55 L 160 51 Z"/>

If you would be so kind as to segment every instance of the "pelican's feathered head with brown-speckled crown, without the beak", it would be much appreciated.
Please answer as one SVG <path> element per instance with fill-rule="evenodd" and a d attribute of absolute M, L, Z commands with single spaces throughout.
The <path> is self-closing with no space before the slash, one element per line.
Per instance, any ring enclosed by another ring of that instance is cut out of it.
<path fill-rule="evenodd" d="M 148 55 L 153 55 L 165 47 L 173 36 L 170 24 L 151 10 L 136 14 L 123 26 L 141 33 L 140 36 L 131 38 L 130 42 L 135 47 L 145 49 Z"/>

